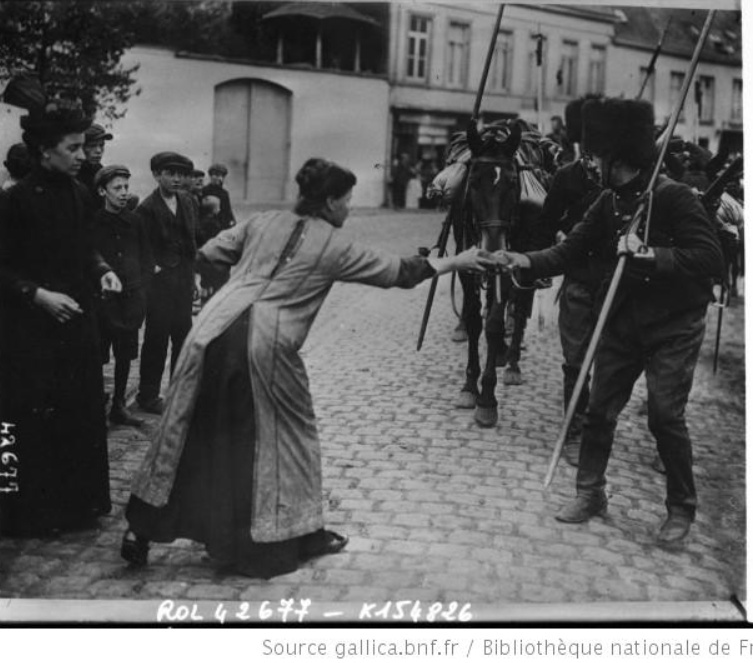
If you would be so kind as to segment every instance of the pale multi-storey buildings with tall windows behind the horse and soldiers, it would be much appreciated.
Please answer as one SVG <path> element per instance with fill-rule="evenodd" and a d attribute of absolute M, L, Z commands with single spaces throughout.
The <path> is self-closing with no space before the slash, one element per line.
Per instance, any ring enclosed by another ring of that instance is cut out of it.
<path fill-rule="evenodd" d="M 395 3 L 390 14 L 393 159 L 439 161 L 451 134 L 470 119 L 492 40 L 497 6 Z M 670 21 L 670 17 L 672 20 Z M 643 98 L 668 119 L 705 12 L 604 6 L 507 5 L 497 34 L 483 120 L 521 118 L 547 133 L 555 116 L 585 94 L 636 97 L 665 35 Z M 676 134 L 711 150 L 742 148 L 739 12 L 718 12 Z M 695 83 L 694 82 L 694 83 Z"/>

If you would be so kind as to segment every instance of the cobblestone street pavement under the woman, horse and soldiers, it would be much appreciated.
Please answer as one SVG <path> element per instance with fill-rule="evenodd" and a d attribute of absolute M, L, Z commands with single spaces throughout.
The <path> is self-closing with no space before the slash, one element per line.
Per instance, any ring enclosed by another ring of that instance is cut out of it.
<path fill-rule="evenodd" d="M 435 241 L 440 221 L 436 213 L 371 211 L 356 213 L 345 232 L 409 255 Z M 523 605 L 533 608 L 534 619 L 568 619 L 576 606 L 596 606 L 597 619 L 610 609 L 618 619 L 620 610 L 635 617 L 630 606 L 641 605 L 636 602 L 672 618 L 695 602 L 728 606 L 733 595 L 744 602 L 742 297 L 725 312 L 716 375 L 710 309 L 688 405 L 700 508 L 687 542 L 670 551 L 654 544 L 664 478 L 650 468 L 654 443 L 640 414 L 645 385 L 639 382 L 617 429 L 609 515 L 583 525 L 558 523 L 553 514 L 573 495 L 575 470 L 563 460 L 543 488 L 561 423 L 556 283 L 537 295 L 521 364 L 524 383 L 498 386 L 500 421 L 493 429 L 478 428 L 472 411 L 453 407 L 465 345 L 450 340 L 456 318 L 449 284 L 442 277 L 420 352 L 428 283 L 409 291 L 336 285 L 304 347 L 322 439 L 327 521 L 351 537 L 342 554 L 261 581 L 221 575 L 203 559 L 201 546 L 178 541 L 153 546 L 148 568 L 126 568 L 118 554 L 123 508 L 156 423 L 144 415 L 143 430 L 110 431 L 114 509 L 101 529 L 0 541 L 0 596 L 459 601 L 486 606 L 492 617 L 495 609 Z"/>

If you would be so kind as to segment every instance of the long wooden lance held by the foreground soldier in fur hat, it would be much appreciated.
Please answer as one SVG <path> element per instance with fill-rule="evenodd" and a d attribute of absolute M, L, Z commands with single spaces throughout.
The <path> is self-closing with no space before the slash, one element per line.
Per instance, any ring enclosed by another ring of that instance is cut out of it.
<path fill-rule="evenodd" d="M 648 240 L 649 220 L 651 217 L 651 195 L 654 189 L 654 185 L 656 184 L 656 180 L 659 177 L 659 172 L 661 171 L 662 162 L 664 161 L 664 155 L 666 154 L 667 147 L 669 146 L 669 140 L 674 133 L 675 126 L 677 125 L 677 120 L 680 117 L 680 112 L 682 111 L 682 107 L 685 104 L 685 98 L 687 97 L 688 89 L 690 88 L 690 82 L 693 78 L 696 67 L 698 66 L 698 60 L 701 57 L 701 50 L 703 49 L 706 37 L 708 36 L 709 30 L 711 29 L 711 23 L 714 20 L 715 13 L 715 10 L 712 9 L 706 16 L 706 22 L 704 23 L 701 34 L 698 37 L 698 43 L 696 44 L 695 52 L 693 53 L 690 65 L 688 66 L 688 73 L 686 74 L 685 80 L 683 82 L 682 90 L 680 92 L 680 98 L 677 100 L 677 106 L 675 106 L 674 111 L 672 112 L 672 116 L 669 120 L 669 126 L 667 127 L 667 132 L 664 135 L 664 140 L 662 141 L 659 156 L 656 159 L 656 164 L 651 174 L 651 179 L 649 180 L 649 183 L 646 187 L 646 194 L 648 195 L 644 195 L 641 198 L 641 202 L 639 203 L 638 208 L 636 209 L 635 214 L 633 215 L 633 218 L 631 219 L 627 229 L 628 234 L 636 232 L 638 226 L 641 223 L 641 220 L 643 219 L 644 213 L 646 213 L 646 232 L 643 238 L 643 242 L 646 245 Z M 586 382 L 586 376 L 591 370 L 591 364 L 593 364 L 594 356 L 596 354 L 596 348 L 599 345 L 607 317 L 609 316 L 609 310 L 612 307 L 612 303 L 614 302 L 614 298 L 617 293 L 617 287 L 619 286 L 620 280 L 622 279 L 622 274 L 625 271 L 626 261 L 627 255 L 625 254 L 620 255 L 617 259 L 617 266 L 615 267 L 614 274 L 612 275 L 612 280 L 609 284 L 607 295 L 604 298 L 604 304 L 602 305 L 601 311 L 599 312 L 599 317 L 596 321 L 596 326 L 594 327 L 591 341 L 588 344 L 586 356 L 583 359 L 583 365 L 580 368 L 578 379 L 575 382 L 575 387 L 573 389 L 572 396 L 570 397 L 570 402 L 567 404 L 565 419 L 562 422 L 562 428 L 560 429 L 560 433 L 557 437 L 557 442 L 554 447 L 554 452 L 552 453 L 552 460 L 549 464 L 549 469 L 547 470 L 546 477 L 544 479 L 545 488 L 549 486 L 549 484 L 552 482 L 552 479 L 554 478 L 554 472 L 557 469 L 557 463 L 559 462 L 560 456 L 562 455 L 562 449 L 565 446 L 567 431 L 570 428 L 570 423 L 573 420 L 575 407 L 578 403 L 578 399 L 580 398 L 580 394 L 583 391 L 583 386 Z"/>

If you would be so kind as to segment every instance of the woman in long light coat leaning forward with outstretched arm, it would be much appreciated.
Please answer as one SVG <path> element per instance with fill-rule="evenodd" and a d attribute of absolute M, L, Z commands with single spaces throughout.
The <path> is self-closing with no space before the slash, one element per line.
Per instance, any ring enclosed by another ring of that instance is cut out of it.
<path fill-rule="evenodd" d="M 477 249 L 401 259 L 354 244 L 338 228 L 355 176 L 310 159 L 294 212 L 268 212 L 202 247 L 234 266 L 202 309 L 178 360 L 160 425 L 138 472 L 121 553 L 145 564 L 149 541 L 203 542 L 252 577 L 290 573 L 341 550 L 324 529 L 321 452 L 299 354 L 336 281 L 410 288 L 437 273 L 483 270 Z"/>

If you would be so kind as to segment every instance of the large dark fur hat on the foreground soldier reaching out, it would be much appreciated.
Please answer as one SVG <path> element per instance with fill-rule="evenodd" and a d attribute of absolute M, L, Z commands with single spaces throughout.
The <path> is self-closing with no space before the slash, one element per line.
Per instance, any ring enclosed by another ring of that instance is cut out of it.
<path fill-rule="evenodd" d="M 637 99 L 591 99 L 583 104 L 583 150 L 646 168 L 656 156 L 654 107 Z"/>

